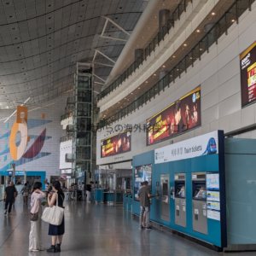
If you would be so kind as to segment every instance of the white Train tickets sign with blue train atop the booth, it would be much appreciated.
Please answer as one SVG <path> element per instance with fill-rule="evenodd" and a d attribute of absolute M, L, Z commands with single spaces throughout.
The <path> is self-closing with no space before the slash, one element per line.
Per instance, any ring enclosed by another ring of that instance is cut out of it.
<path fill-rule="evenodd" d="M 154 164 L 218 154 L 218 131 L 193 137 L 180 143 L 154 149 Z"/>

